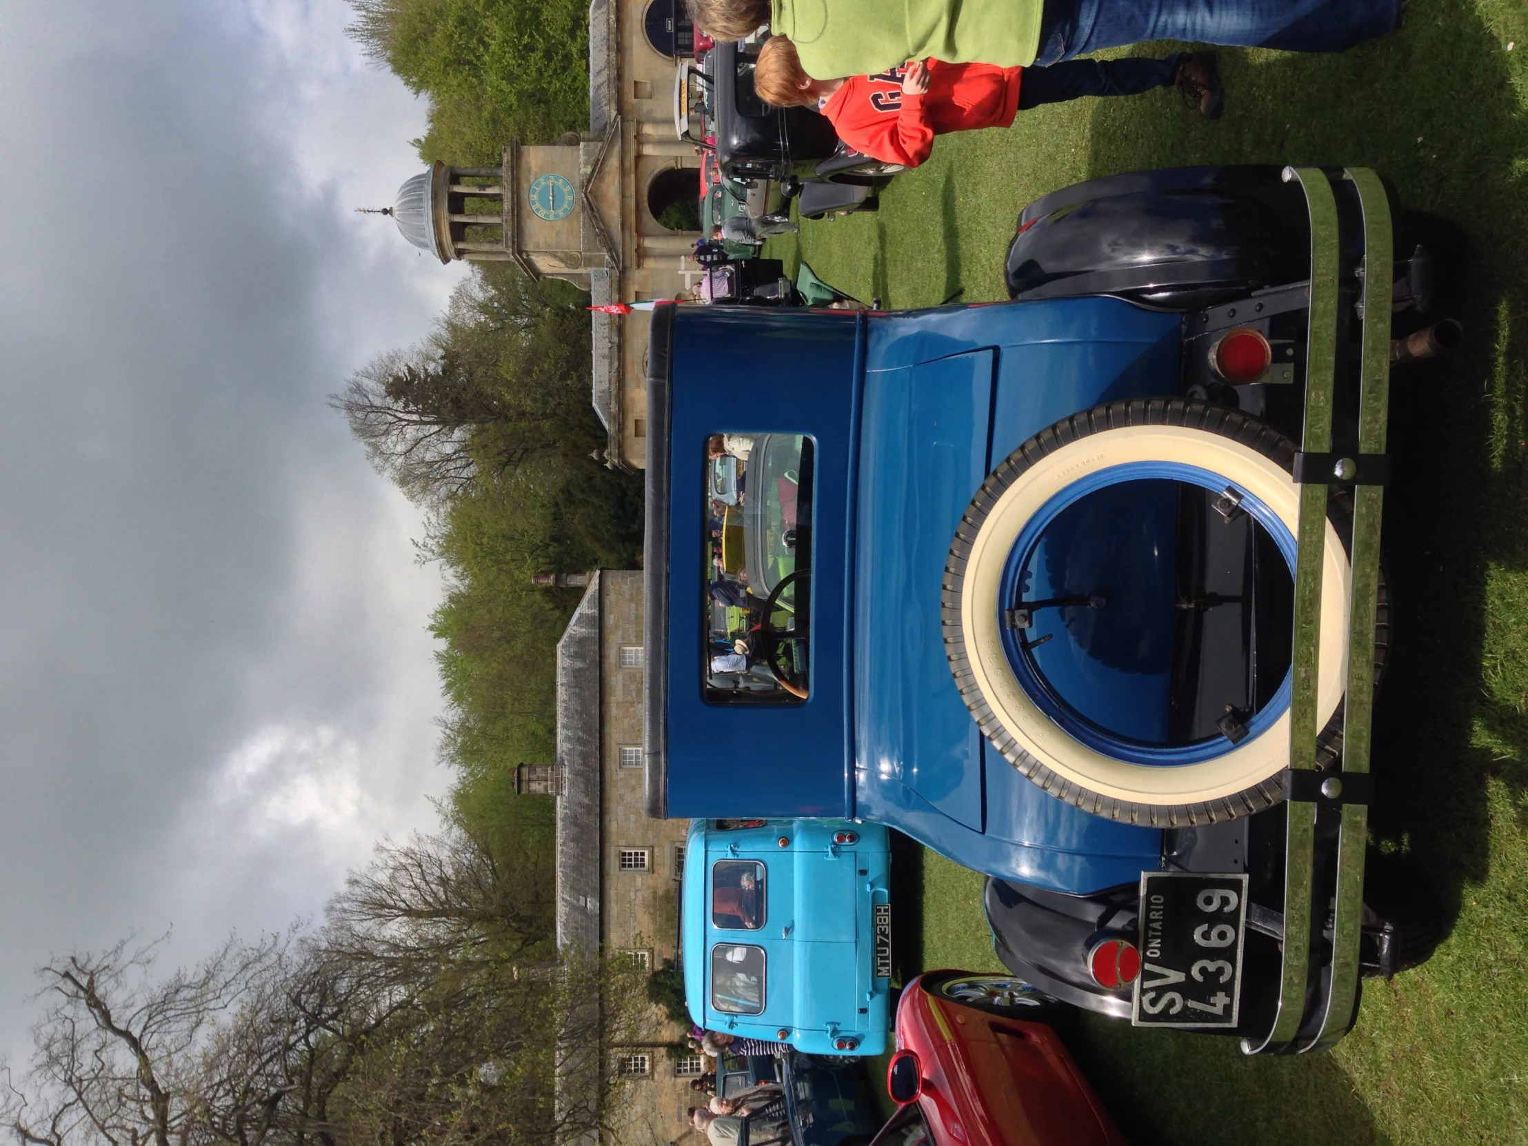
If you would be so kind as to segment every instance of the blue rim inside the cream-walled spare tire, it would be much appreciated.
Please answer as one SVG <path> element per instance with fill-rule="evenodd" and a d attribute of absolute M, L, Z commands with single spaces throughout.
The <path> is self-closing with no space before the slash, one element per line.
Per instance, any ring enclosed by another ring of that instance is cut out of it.
<path fill-rule="evenodd" d="M 1034 547 L 1039 544 L 1045 530 L 1056 521 L 1057 516 L 1060 516 L 1062 512 L 1089 494 L 1108 486 L 1118 486 L 1126 481 L 1163 480 L 1183 481 L 1190 486 L 1209 489 L 1215 494 L 1225 489 L 1235 490 L 1241 495 L 1241 509 L 1248 513 L 1253 521 L 1262 526 L 1268 536 L 1273 538 L 1279 553 L 1284 556 L 1284 561 L 1290 568 L 1290 576 L 1294 576 L 1294 561 L 1299 549 L 1294 535 L 1290 532 L 1288 526 L 1284 524 L 1279 515 L 1274 513 L 1267 503 L 1259 500 L 1254 494 L 1235 481 L 1230 481 L 1219 474 L 1213 474 L 1209 469 L 1201 469 L 1199 466 L 1189 466 L 1181 461 L 1126 461 L 1123 465 L 1109 466 L 1077 478 L 1077 481 L 1071 483 L 1041 506 L 1039 510 L 1030 516 L 1027 523 L 1024 523 L 1024 529 L 1019 530 L 1019 536 L 1015 538 L 1013 547 L 1008 550 L 1008 556 L 1002 565 L 1002 579 L 998 585 L 998 631 L 1002 634 L 1002 651 L 1007 656 L 1008 666 L 1013 669 L 1013 675 L 1018 678 L 1019 688 L 1024 689 L 1025 695 L 1034 701 L 1041 712 L 1050 717 L 1063 732 L 1080 744 L 1085 744 L 1094 752 L 1109 756 L 1111 759 L 1152 767 L 1204 764 L 1207 761 L 1218 759 L 1264 735 L 1290 707 L 1293 669 L 1285 671 L 1284 681 L 1279 685 L 1273 697 L 1270 697 L 1268 703 L 1254 712 L 1250 720 L 1247 720 L 1247 736 L 1236 744 L 1232 744 L 1224 736 L 1213 736 L 1193 744 L 1146 744 L 1138 740 L 1120 736 L 1118 733 L 1096 724 L 1073 709 L 1071 704 L 1068 704 L 1051 688 L 1045 674 L 1041 672 L 1039 666 L 1034 663 L 1034 657 L 1021 643 L 1021 630 L 1007 628 L 1004 625 L 1002 614 L 1019 599 L 1021 578 L 1024 576 L 1024 570 L 1034 553 Z"/>

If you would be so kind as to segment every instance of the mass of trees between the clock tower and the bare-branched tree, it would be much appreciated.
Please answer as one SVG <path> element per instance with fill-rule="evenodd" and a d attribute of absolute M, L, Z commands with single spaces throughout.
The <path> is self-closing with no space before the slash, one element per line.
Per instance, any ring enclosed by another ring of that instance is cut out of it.
<path fill-rule="evenodd" d="M 423 550 L 448 571 L 432 631 L 449 701 L 442 755 L 455 811 L 503 854 L 550 853 L 549 801 L 515 799 L 515 764 L 555 752 L 553 659 L 578 604 L 535 573 L 630 568 L 642 484 L 599 460 L 588 296 L 490 264 L 420 345 L 333 396 L 377 469 L 431 510 Z"/>

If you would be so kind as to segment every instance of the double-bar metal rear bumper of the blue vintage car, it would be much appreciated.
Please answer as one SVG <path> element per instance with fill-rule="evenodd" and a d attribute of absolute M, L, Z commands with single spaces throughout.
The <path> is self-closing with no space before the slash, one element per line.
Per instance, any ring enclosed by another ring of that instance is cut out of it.
<path fill-rule="evenodd" d="M 1374 715 L 1374 643 L 1380 593 L 1380 516 L 1384 487 L 1371 458 L 1386 451 L 1390 384 L 1390 206 L 1368 168 L 1287 168 L 1305 189 L 1311 219 L 1311 315 L 1306 344 L 1305 428 L 1296 458 L 1300 486 L 1294 582 L 1294 695 L 1290 770 L 1285 773 L 1284 938 L 1277 1001 L 1267 1034 L 1242 1041 L 1248 1054 L 1332 1047 L 1358 1012 L 1358 944 L 1369 825 L 1369 749 Z M 1339 197 L 1348 211 L 1339 211 Z M 1345 228 L 1345 219 L 1357 217 Z M 1345 231 L 1357 234 L 1346 235 Z M 1345 241 L 1360 238 L 1360 243 Z M 1346 351 L 1357 347 L 1355 367 Z M 1334 440 L 1339 377 L 1357 390 L 1355 435 Z M 1348 680 L 1343 753 L 1337 770 L 1317 772 L 1316 712 L 1320 597 L 1317 553 L 1326 526 L 1329 481 L 1357 460 L 1352 481 L 1352 587 L 1348 608 Z M 1346 465 L 1345 465 L 1346 463 Z M 1331 843 L 1326 843 L 1331 840 Z M 1329 914 L 1329 921 L 1328 921 Z"/>

